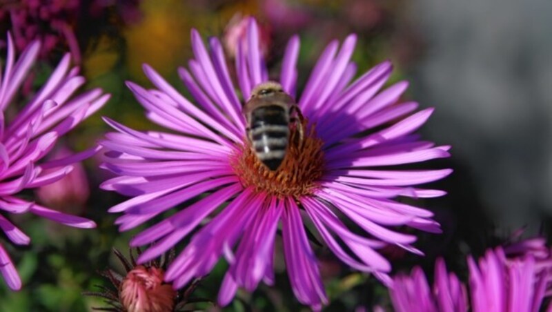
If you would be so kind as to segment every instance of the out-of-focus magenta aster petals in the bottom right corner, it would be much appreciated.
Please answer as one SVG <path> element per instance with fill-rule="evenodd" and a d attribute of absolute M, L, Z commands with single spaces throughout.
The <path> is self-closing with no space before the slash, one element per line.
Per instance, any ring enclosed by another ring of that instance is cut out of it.
<path fill-rule="evenodd" d="M 395 277 L 391 301 L 399 312 L 467 311 L 469 306 L 474 312 L 540 311 L 552 277 L 552 262 L 549 256 L 542 258 L 542 249 L 535 256 L 531 249 L 513 258 L 501 247 L 489 249 L 478 263 L 469 257 L 470 301 L 466 287 L 454 273 L 446 272 L 442 259 L 435 264 L 433 289 L 422 269 L 415 267 L 410 276 Z"/>

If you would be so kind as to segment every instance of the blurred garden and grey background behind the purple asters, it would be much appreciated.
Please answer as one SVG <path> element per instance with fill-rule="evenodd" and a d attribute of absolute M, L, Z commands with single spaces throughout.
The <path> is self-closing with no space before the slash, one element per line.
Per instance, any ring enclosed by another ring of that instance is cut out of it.
<path fill-rule="evenodd" d="M 451 144 L 453 157 L 427 166 L 450 167 L 453 175 L 432 187 L 449 195 L 418 201 L 435 211 L 442 235 L 421 235 L 426 257 L 388 248 L 395 271 L 422 264 L 431 275 L 442 255 L 454 271 L 465 272 L 465 255 L 524 235 L 549 235 L 552 216 L 552 1 L 549 0 L 0 0 L 0 30 L 10 31 L 21 51 L 43 41 L 39 64 L 21 90 L 21 99 L 46 81 L 65 52 L 81 66 L 87 88 L 100 86 L 110 103 L 63 142 L 59 153 L 82 150 L 107 127 L 106 115 L 138 129 L 152 128 L 124 85 L 148 86 L 141 64 L 148 63 L 186 94 L 177 67 L 191 56 L 190 29 L 223 37 L 228 60 L 240 21 L 260 23 L 263 53 L 277 74 L 287 39 L 301 37 L 299 86 L 332 39 L 359 36 L 353 59 L 358 74 L 386 59 L 395 65 L 391 81 L 411 82 L 405 99 L 437 108 L 422 128 L 426 139 Z M 1 57 L 6 41 L 0 36 Z M 230 66 L 232 67 L 232 66 Z M 21 102 L 23 103 L 23 101 Z M 14 104 L 17 105 L 17 104 Z M 0 311 L 90 311 L 106 306 L 83 297 L 95 285 L 108 285 L 97 271 L 122 271 L 111 248 L 128 253 L 138 231 L 118 233 L 108 207 L 123 198 L 99 191 L 108 173 L 89 159 L 58 186 L 35 193 L 39 202 L 95 220 L 98 228 L 78 231 L 26 215 L 14 223 L 32 238 L 27 247 L 0 238 L 23 279 L 14 293 L 0 282 Z M 4 243 L 6 242 L 6 243 Z M 348 270 L 324 248 L 318 251 L 331 304 L 327 311 L 388 306 L 386 290 L 368 275 Z M 280 259 L 281 260 L 281 259 Z M 195 295 L 215 300 L 226 264 L 201 281 Z M 299 311 L 282 261 L 276 262 L 275 288 L 239 292 L 227 311 Z M 213 304 L 193 309 L 219 308 Z M 362 311 L 362 310 L 359 310 Z"/>

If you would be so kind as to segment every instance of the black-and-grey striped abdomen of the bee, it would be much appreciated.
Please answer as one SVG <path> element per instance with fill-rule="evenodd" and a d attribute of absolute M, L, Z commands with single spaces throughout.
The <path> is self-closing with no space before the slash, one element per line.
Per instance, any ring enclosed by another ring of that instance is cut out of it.
<path fill-rule="evenodd" d="M 255 155 L 270 170 L 284 161 L 289 139 L 289 115 L 278 105 L 260 106 L 250 113 L 249 139 Z"/>

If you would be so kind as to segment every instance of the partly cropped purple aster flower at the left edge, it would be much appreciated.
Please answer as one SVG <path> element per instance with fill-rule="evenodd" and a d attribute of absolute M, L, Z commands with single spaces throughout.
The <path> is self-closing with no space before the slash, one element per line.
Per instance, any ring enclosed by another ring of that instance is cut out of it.
<path fill-rule="evenodd" d="M 73 164 L 93 155 L 98 148 L 40 162 L 55 146 L 57 139 L 75 128 L 106 103 L 109 96 L 101 90 L 70 96 L 84 84 L 78 68 L 70 68 L 70 57 L 63 57 L 46 84 L 23 106 L 19 113 L 9 104 L 39 54 L 40 43 L 33 41 L 15 61 L 15 47 L 8 35 L 8 56 L 0 77 L 0 228 L 17 245 L 27 245 L 30 238 L 12 224 L 9 213 L 32 213 L 74 226 L 92 228 L 95 223 L 82 217 L 66 215 L 17 196 L 28 188 L 45 186 L 68 175 Z M 10 257 L 0 245 L 0 273 L 11 289 L 20 289 L 21 280 Z"/>

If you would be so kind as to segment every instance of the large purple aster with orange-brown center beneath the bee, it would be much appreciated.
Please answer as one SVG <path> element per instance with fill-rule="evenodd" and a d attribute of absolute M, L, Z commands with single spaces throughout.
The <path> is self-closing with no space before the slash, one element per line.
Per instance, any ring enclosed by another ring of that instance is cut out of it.
<path fill-rule="evenodd" d="M 237 48 L 237 85 L 243 99 L 268 81 L 258 34 L 251 19 L 246 39 Z M 413 113 L 416 103 L 399 102 L 406 82 L 381 90 L 391 75 L 389 62 L 351 82 L 356 72 L 351 61 L 355 41 L 351 35 L 341 49 L 333 41 L 322 53 L 297 97 L 308 119 L 303 139 L 297 139 L 297 127 L 290 127 L 286 157 L 275 171 L 259 161 L 246 138 L 243 101 L 229 77 L 218 39 L 209 39 L 208 50 L 193 30 L 195 59 L 189 62 L 189 70 L 179 68 L 196 104 L 144 66 L 155 89 L 131 82 L 128 86 L 152 121 L 176 133 L 143 133 L 106 119 L 117 133 L 109 133 L 101 142 L 109 150 L 103 167 L 119 176 L 102 187 L 132 197 L 109 211 L 124 213 L 116 222 L 126 231 L 186 204 L 130 242 L 132 246 L 155 243 L 139 262 L 158 257 L 199 228 L 165 278 L 183 286 L 209 273 L 224 256 L 230 267 L 219 303 L 228 304 L 238 287 L 253 291 L 261 281 L 273 284 L 275 237 L 281 226 L 293 291 L 300 302 L 317 308 L 327 299 L 305 223 L 316 228 L 340 260 L 384 282 L 390 282 L 386 273 L 391 265 L 378 248 L 396 244 L 420 253 L 412 246 L 416 236 L 396 227 L 439 233 L 439 224 L 431 220 L 431 212 L 394 198 L 443 195 L 415 185 L 441 179 L 451 170 L 388 166 L 449 157 L 449 147 L 436 147 L 413 134 L 433 109 Z M 292 97 L 297 90 L 298 52 L 299 39 L 293 37 L 279 79 Z M 377 130 L 366 135 L 370 129 Z M 366 235 L 353 233 L 342 217 L 363 228 Z"/>

